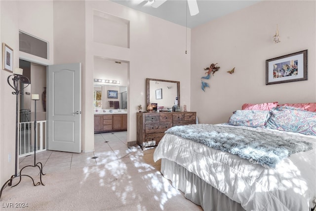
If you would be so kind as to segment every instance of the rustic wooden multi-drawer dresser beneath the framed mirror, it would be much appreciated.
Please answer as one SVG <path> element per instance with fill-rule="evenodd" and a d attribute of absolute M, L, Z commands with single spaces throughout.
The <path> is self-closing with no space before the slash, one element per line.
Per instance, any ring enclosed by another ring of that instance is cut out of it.
<path fill-rule="evenodd" d="M 168 128 L 196 124 L 196 117 L 197 112 L 137 113 L 137 144 L 142 150 L 157 146 Z"/>

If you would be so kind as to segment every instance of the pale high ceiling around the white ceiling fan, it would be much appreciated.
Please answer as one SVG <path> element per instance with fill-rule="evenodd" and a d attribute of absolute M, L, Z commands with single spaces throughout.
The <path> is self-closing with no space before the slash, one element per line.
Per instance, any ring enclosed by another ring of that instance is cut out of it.
<path fill-rule="evenodd" d="M 166 0 L 158 8 L 151 6 L 151 3 L 155 0 L 111 1 L 192 29 L 255 4 L 260 0 L 197 0 L 199 13 L 195 16 L 190 15 L 189 8 L 187 9 L 187 0 Z M 188 13 L 187 16 L 186 13 Z"/>

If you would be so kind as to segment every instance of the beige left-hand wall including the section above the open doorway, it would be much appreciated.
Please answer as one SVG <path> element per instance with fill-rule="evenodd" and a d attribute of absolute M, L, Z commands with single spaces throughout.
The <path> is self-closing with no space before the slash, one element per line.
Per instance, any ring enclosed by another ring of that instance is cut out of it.
<path fill-rule="evenodd" d="M 0 1 L 0 40 L 13 48 L 13 68 L 19 57 L 51 64 L 53 61 L 52 1 Z M 28 12 L 26 12 L 28 11 Z M 32 11 L 32 12 L 30 12 Z M 40 17 L 40 18 L 39 18 Z M 49 59 L 40 59 L 19 52 L 19 30 L 50 42 Z M 2 62 L 2 61 L 1 61 Z M 6 83 L 8 71 L 0 71 L 0 183 L 14 174 L 15 164 L 15 95 Z M 8 162 L 8 155 L 11 161 Z"/>

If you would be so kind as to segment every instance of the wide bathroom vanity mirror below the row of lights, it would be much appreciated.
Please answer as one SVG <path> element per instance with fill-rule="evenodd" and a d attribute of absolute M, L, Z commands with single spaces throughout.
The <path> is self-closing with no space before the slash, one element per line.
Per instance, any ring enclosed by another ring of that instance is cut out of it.
<path fill-rule="evenodd" d="M 113 93 L 117 93 L 113 95 Z M 94 109 L 127 109 L 127 87 L 94 84 Z"/>

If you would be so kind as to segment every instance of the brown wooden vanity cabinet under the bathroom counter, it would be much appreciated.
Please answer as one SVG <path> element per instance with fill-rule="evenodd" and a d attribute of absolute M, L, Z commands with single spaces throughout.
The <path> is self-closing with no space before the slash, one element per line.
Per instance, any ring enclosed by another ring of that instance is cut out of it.
<path fill-rule="evenodd" d="M 127 114 L 96 114 L 94 115 L 94 133 L 126 131 Z"/>

